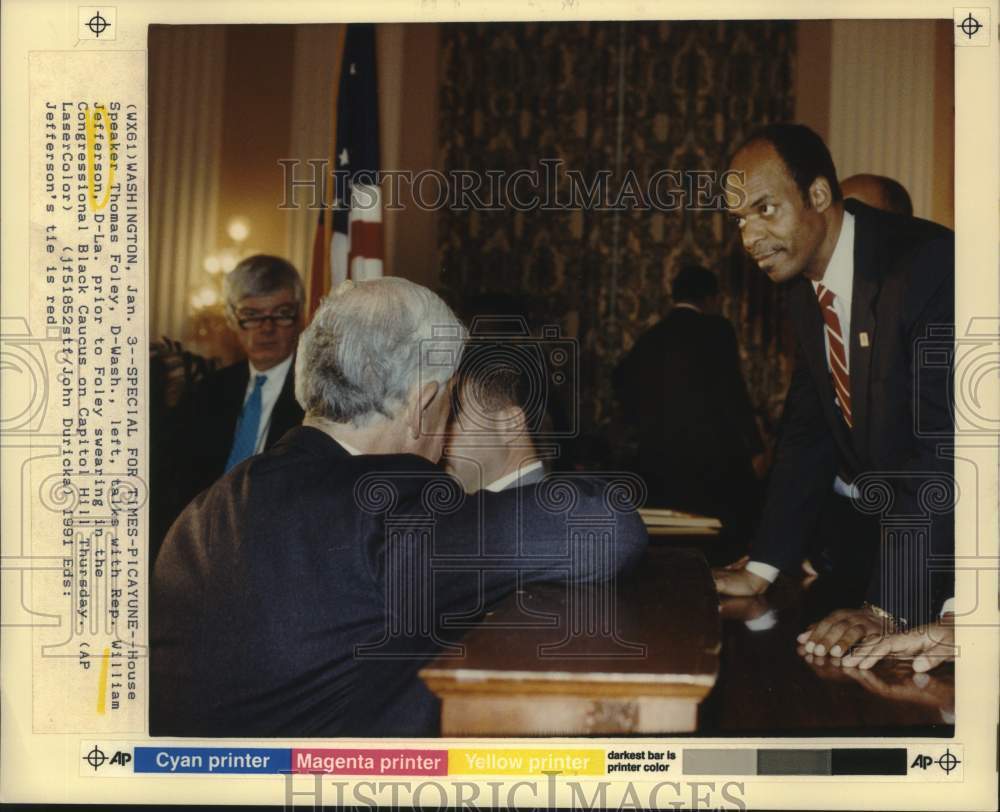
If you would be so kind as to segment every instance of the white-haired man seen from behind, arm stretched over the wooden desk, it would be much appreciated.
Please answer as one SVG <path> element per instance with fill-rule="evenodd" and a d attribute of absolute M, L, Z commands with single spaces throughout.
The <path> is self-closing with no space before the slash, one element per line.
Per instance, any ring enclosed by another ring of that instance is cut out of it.
<path fill-rule="evenodd" d="M 446 616 L 521 571 L 601 581 L 642 553 L 642 521 L 592 478 L 574 509 L 544 484 L 466 499 L 436 465 L 463 342 L 404 279 L 320 306 L 296 360 L 304 425 L 197 497 L 156 562 L 151 733 L 434 735 L 417 671 L 450 644 Z M 610 532 L 581 532 L 581 514 Z"/>

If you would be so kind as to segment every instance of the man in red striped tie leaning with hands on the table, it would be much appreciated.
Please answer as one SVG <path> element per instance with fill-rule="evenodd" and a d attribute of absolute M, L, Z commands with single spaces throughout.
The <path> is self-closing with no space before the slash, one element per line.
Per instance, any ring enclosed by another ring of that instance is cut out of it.
<path fill-rule="evenodd" d="M 832 527 L 834 563 L 870 570 L 867 601 L 855 608 L 844 593 L 845 608 L 799 641 L 804 653 L 839 658 L 887 625 L 949 608 L 952 466 L 939 445 L 953 427 L 953 234 L 845 203 L 826 145 L 801 125 L 754 134 L 731 170 L 743 245 L 788 286 L 797 363 L 751 560 L 717 571 L 716 584 L 760 593 L 779 571 L 796 573 L 807 543 Z M 921 341 L 935 330 L 945 346 L 927 364 Z M 919 527 L 883 530 L 880 519 Z"/>

